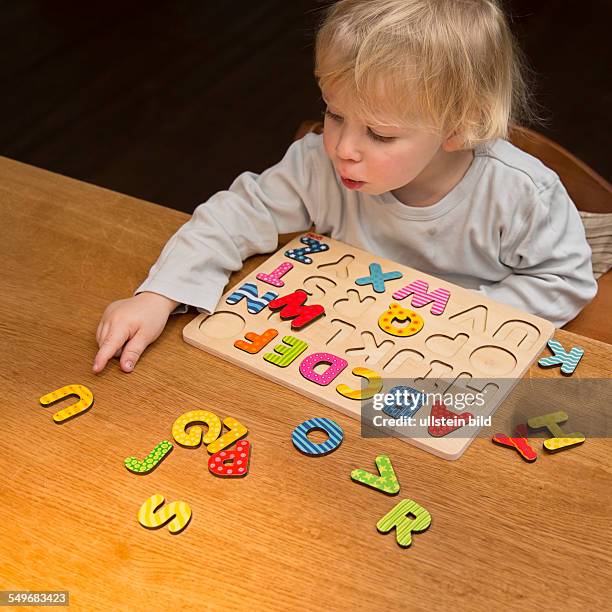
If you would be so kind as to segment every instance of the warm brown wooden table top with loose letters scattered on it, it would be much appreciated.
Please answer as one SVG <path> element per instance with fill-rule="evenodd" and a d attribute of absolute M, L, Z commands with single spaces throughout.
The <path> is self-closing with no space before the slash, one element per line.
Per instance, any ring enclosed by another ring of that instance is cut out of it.
<path fill-rule="evenodd" d="M 0 589 L 68 590 L 84 610 L 609 605 L 610 439 L 533 464 L 487 439 L 457 462 L 364 439 L 358 422 L 187 345 L 181 331 L 193 314 L 173 317 L 133 373 L 114 361 L 95 376 L 104 307 L 131 295 L 187 216 L 3 158 L 0 206 Z M 556 338 L 586 349 L 575 377 L 611 376 L 612 346 Z M 560 374 L 534 366 L 528 376 Z M 57 425 L 38 399 L 70 383 L 91 388 L 95 404 Z M 147 476 L 125 469 L 125 457 L 146 454 L 198 408 L 249 427 L 247 478 L 212 476 L 203 448 L 177 447 Z M 326 457 L 291 443 L 313 416 L 345 432 Z M 392 458 L 398 497 L 349 477 L 380 453 Z M 190 504 L 180 535 L 138 524 L 156 492 Z M 433 521 L 402 549 L 376 523 L 406 497 Z"/>

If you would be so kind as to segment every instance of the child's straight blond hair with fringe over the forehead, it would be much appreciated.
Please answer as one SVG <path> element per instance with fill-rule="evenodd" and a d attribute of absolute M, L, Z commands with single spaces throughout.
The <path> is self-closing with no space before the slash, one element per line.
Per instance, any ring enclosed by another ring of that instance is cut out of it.
<path fill-rule="evenodd" d="M 315 75 L 366 121 L 426 125 L 472 148 L 529 115 L 523 56 L 495 0 L 341 0 Z"/>

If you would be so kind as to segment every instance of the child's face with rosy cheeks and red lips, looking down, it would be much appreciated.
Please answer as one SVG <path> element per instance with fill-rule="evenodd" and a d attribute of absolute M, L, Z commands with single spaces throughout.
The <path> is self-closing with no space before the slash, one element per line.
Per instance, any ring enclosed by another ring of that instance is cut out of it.
<path fill-rule="evenodd" d="M 367 125 L 339 99 L 327 103 L 323 142 L 342 183 L 371 195 L 398 190 L 442 154 L 444 139 L 419 128 Z"/>

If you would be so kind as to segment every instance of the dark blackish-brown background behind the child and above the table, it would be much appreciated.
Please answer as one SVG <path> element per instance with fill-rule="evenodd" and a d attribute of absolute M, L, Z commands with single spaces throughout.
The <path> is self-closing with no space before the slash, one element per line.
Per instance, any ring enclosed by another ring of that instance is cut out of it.
<path fill-rule="evenodd" d="M 313 35 L 327 3 L 0 0 L 0 153 L 191 212 L 320 117 Z M 535 127 L 610 180 L 612 2 L 505 7 Z"/>

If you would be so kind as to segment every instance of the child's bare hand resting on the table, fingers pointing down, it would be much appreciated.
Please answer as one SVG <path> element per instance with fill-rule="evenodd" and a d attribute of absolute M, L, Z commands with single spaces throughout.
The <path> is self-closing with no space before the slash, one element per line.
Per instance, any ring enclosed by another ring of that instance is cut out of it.
<path fill-rule="evenodd" d="M 100 350 L 94 359 L 93 371 L 97 374 L 111 357 L 121 357 L 121 369 L 131 372 L 143 351 L 162 333 L 178 304 L 148 291 L 109 304 L 96 331 Z"/>

